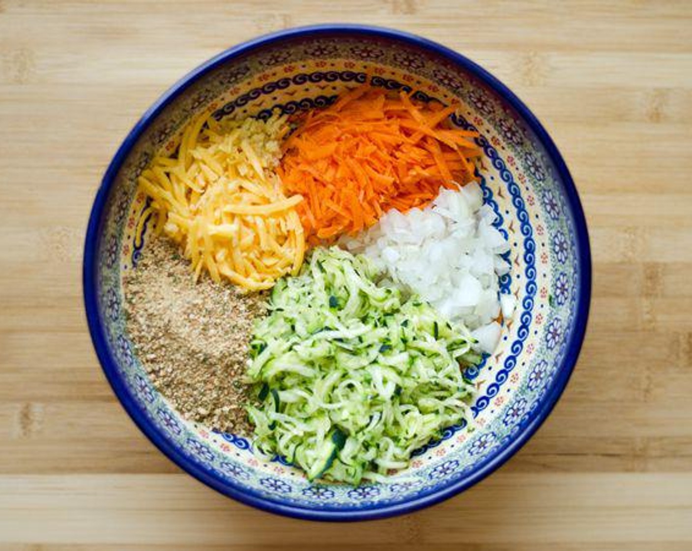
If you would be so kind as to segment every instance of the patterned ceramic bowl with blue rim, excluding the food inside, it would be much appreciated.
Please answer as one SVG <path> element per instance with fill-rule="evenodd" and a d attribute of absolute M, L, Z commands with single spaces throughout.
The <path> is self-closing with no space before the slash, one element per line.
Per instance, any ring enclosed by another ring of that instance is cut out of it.
<path fill-rule="evenodd" d="M 381 484 L 310 483 L 250 440 L 185 421 L 159 394 L 125 331 L 122 277 L 149 238 L 136 177 L 170 152 L 190 117 L 266 117 L 319 109 L 362 82 L 459 102 L 453 123 L 480 132 L 482 189 L 511 245 L 502 292 L 518 309 L 478 369 L 475 428 L 447 428 L 410 468 Z M 316 26 L 260 37 L 194 69 L 154 103 L 116 152 L 91 211 L 84 250 L 89 329 L 105 374 L 139 428 L 185 471 L 239 501 L 322 520 L 400 514 L 453 496 L 525 444 L 563 392 L 581 347 L 590 300 L 585 220 L 565 162 L 534 114 L 477 64 L 435 42 L 394 30 Z"/>

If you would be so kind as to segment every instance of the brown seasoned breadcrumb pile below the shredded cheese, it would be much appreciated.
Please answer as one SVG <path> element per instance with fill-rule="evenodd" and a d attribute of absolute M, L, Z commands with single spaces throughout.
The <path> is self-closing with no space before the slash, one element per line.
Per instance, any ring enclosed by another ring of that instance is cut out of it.
<path fill-rule="evenodd" d="M 205 274 L 194 283 L 165 238 L 149 240 L 124 285 L 127 331 L 158 391 L 187 419 L 251 434 L 242 376 L 263 297 Z"/>

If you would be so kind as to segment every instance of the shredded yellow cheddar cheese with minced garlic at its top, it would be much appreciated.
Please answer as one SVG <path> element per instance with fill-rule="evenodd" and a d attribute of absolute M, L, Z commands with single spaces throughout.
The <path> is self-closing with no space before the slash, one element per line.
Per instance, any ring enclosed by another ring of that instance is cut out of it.
<path fill-rule="evenodd" d="M 302 197 L 286 198 L 273 171 L 287 131 L 279 116 L 219 122 L 204 115 L 185 128 L 176 155 L 155 157 L 140 175 L 156 230 L 183 247 L 196 278 L 206 270 L 215 281 L 261 290 L 298 273 Z"/>

